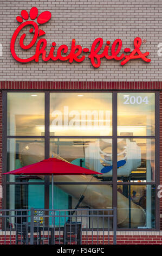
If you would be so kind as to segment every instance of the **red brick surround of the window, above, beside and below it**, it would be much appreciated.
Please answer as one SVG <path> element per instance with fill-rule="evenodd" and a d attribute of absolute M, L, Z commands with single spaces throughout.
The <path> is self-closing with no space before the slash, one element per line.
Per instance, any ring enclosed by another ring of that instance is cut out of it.
<path fill-rule="evenodd" d="M 162 82 L 29 82 L 2 81 L 0 82 L 0 170 L 2 169 L 2 90 L 161 90 L 160 92 L 160 156 L 162 156 Z M 0 185 L 2 175 L 0 171 Z M 160 184 L 162 184 L 162 157 L 160 159 Z M 2 200 L 0 198 L 0 208 Z M 162 214 L 162 200 L 160 200 Z M 160 221 L 162 230 L 162 219 Z M 118 243 L 161 243 L 162 236 L 118 236 Z"/>

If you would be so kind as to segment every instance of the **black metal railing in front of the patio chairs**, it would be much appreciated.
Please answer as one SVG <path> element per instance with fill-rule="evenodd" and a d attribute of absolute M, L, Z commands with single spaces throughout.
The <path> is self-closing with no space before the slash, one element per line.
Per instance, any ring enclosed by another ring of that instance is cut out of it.
<path fill-rule="evenodd" d="M 0 244 L 116 244 L 116 208 L 0 211 Z"/>

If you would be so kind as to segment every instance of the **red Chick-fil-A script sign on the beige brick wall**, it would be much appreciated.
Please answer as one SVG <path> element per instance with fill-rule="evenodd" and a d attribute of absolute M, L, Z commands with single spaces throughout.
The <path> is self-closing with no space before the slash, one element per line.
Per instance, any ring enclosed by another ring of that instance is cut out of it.
<path fill-rule="evenodd" d="M 38 16 L 38 17 L 37 17 Z M 34 20 L 37 18 L 37 22 Z M 16 20 L 21 23 L 20 26 L 16 29 L 14 34 L 12 35 L 11 39 L 11 54 L 18 62 L 21 63 L 28 63 L 32 60 L 35 60 L 35 62 L 39 61 L 39 58 L 41 57 L 44 62 L 48 62 L 48 60 L 53 60 L 54 62 L 56 60 L 62 60 L 67 61 L 69 60 L 69 63 L 72 63 L 74 60 L 75 62 L 83 62 L 83 60 L 86 58 L 86 55 L 83 53 L 88 53 L 88 58 L 90 59 L 92 65 L 94 68 L 99 68 L 101 64 L 101 59 L 106 58 L 107 60 L 115 59 L 115 60 L 121 60 L 121 65 L 125 65 L 129 60 L 131 59 L 142 59 L 145 62 L 151 62 L 151 59 L 146 58 L 148 56 L 149 52 L 141 53 L 140 46 L 141 46 L 141 38 L 137 37 L 134 39 L 134 50 L 131 52 L 130 48 L 125 48 L 124 52 L 129 54 L 122 53 L 120 56 L 120 50 L 122 47 L 122 41 L 121 39 L 116 39 L 111 47 L 111 53 L 109 53 L 109 45 L 111 44 L 110 41 L 106 42 L 106 46 L 102 50 L 103 47 L 103 39 L 97 38 L 94 40 L 92 47 L 89 48 L 82 48 L 81 45 L 76 45 L 75 39 L 72 40 L 72 45 L 70 47 L 70 51 L 67 45 L 61 45 L 59 46 L 57 53 L 55 53 L 55 46 L 56 42 L 52 42 L 51 48 L 49 53 L 46 51 L 47 46 L 47 40 L 42 38 L 39 39 L 36 44 L 35 54 L 29 58 L 23 59 L 18 57 L 18 53 L 16 53 L 17 45 L 16 45 L 16 39 L 20 32 L 22 32 L 22 29 L 30 26 L 29 32 L 33 34 L 33 39 L 30 41 L 28 45 L 24 45 L 24 39 L 26 37 L 26 34 L 22 34 L 20 37 L 20 47 L 23 50 L 29 50 L 31 47 L 33 47 L 40 36 L 45 35 L 46 32 L 44 32 L 42 29 L 38 27 L 38 25 L 44 24 L 47 21 L 49 21 L 51 18 L 51 13 L 49 11 L 44 11 L 40 15 L 38 15 L 38 9 L 36 7 L 31 8 L 30 13 L 26 10 L 21 11 L 21 16 L 17 16 Z M 23 22 L 23 19 L 25 20 Z M 69 51 L 69 54 L 67 54 Z M 66 55 L 67 54 L 67 55 Z M 109 55 L 110 54 L 110 55 Z"/>

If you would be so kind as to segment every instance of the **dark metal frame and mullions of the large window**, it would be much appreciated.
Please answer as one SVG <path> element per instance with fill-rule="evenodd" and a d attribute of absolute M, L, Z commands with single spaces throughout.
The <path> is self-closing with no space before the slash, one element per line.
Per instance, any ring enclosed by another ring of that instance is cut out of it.
<path fill-rule="evenodd" d="M 7 93 L 44 93 L 44 136 L 8 136 L 7 135 Z M 50 136 L 49 124 L 50 124 L 50 93 L 112 93 L 112 124 L 113 131 L 112 136 Z M 155 136 L 118 136 L 117 135 L 117 110 L 118 110 L 118 93 L 155 93 Z M 154 182 L 140 182 L 140 185 L 154 185 L 155 186 L 155 228 L 151 229 L 137 229 L 137 228 L 118 228 L 119 231 L 159 231 L 160 230 L 160 199 L 158 198 L 158 185 L 160 184 L 160 169 L 159 169 L 159 109 L 160 108 L 160 91 L 159 90 L 3 90 L 2 91 L 2 173 L 7 169 L 7 139 L 8 138 L 44 138 L 44 156 L 45 159 L 49 158 L 50 139 L 52 138 L 111 138 L 113 144 L 113 179 L 112 181 L 103 181 L 104 184 L 113 185 L 113 208 L 117 208 L 117 149 L 118 138 L 154 138 L 155 139 L 155 180 Z M 44 209 L 49 209 L 49 176 L 45 176 L 44 182 L 7 182 L 6 175 L 2 175 L 3 184 L 3 199 L 2 209 L 6 209 L 7 198 L 7 185 L 21 184 L 21 185 L 44 185 Z M 82 182 L 54 182 L 54 185 L 59 184 L 83 184 Z M 86 182 L 84 184 L 91 184 L 93 182 Z M 98 183 L 95 182 L 97 185 Z M 94 185 L 95 185 L 94 184 Z M 137 182 L 122 182 L 121 185 L 137 185 Z M 48 198 L 48 200 L 47 200 Z M 105 229 L 106 230 L 106 229 Z"/>

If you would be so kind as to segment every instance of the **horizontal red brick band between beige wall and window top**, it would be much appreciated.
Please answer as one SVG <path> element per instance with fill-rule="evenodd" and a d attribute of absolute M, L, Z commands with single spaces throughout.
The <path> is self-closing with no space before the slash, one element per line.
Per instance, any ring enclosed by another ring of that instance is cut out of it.
<path fill-rule="evenodd" d="M 160 90 L 162 82 L 31 82 L 1 81 L 0 89 L 35 89 L 35 90 Z"/>

